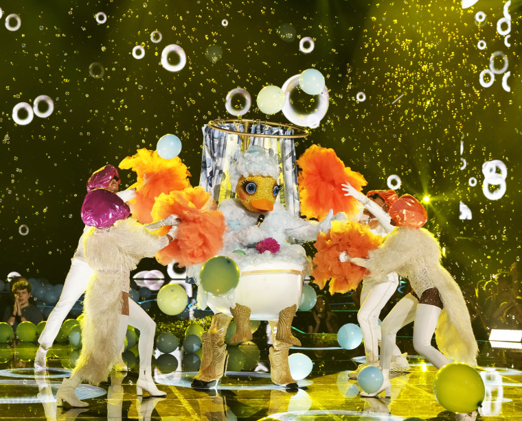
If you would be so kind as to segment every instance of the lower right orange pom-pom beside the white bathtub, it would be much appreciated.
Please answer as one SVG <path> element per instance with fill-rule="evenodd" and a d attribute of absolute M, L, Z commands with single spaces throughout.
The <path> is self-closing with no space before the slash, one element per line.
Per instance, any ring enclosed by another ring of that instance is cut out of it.
<path fill-rule="evenodd" d="M 356 289 L 367 276 L 367 269 L 350 262 L 341 263 L 339 254 L 347 252 L 352 257 L 366 258 L 368 252 L 378 248 L 382 241 L 367 226 L 352 221 L 332 221 L 330 231 L 319 232 L 315 242 L 313 282 L 323 289 L 330 280 L 330 293 Z"/>

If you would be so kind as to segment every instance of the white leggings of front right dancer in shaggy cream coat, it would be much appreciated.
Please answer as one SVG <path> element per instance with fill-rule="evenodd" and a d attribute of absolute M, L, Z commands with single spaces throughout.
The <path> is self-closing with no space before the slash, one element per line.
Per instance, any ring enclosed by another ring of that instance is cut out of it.
<path fill-rule="evenodd" d="M 419 304 L 418 300 L 407 294 L 388 313 L 381 324 L 383 342 L 381 344 L 381 368 L 389 369 L 397 332 L 403 326 L 413 324 L 413 348 L 436 368 L 449 363 L 442 352 L 431 346 L 442 309 L 430 304 Z"/>

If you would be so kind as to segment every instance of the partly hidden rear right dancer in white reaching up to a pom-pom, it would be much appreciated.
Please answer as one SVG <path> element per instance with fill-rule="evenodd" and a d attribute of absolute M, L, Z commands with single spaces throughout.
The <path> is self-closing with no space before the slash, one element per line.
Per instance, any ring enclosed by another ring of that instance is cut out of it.
<path fill-rule="evenodd" d="M 387 213 L 389 207 L 398 200 L 398 196 L 393 190 L 369 191 L 365 196 L 356 191 L 350 184 L 341 184 L 341 186 L 343 191 L 346 192 L 345 196 L 354 197 L 365 207 L 361 223 L 367 225 L 370 231 L 385 237 L 394 230 L 394 226 L 391 225 L 391 218 Z M 359 372 L 367 365 L 378 365 L 378 346 L 381 345 L 381 326 L 378 325 L 379 315 L 391 296 L 394 295 L 398 283 L 398 275 L 395 272 L 378 278 L 367 276 L 363 280 L 361 309 L 357 313 L 357 321 L 363 334 L 366 363 L 360 364 L 357 370 L 350 372 L 348 374 L 350 378 L 357 378 Z M 405 355 L 400 353 L 396 345 L 393 347 L 391 370 L 409 370 Z"/>

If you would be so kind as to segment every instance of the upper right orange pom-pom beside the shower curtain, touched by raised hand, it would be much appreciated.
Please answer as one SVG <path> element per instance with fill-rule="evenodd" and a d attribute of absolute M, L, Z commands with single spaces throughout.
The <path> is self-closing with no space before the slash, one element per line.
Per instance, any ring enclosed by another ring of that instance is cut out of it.
<path fill-rule="evenodd" d="M 299 197 L 301 213 L 319 220 L 326 217 L 328 210 L 345 212 L 348 218 L 359 212 L 354 197 L 345 196 L 341 184 L 349 182 L 361 191 L 367 184 L 365 178 L 349 167 L 345 167 L 334 149 L 312 145 L 297 160 L 299 171 Z"/>

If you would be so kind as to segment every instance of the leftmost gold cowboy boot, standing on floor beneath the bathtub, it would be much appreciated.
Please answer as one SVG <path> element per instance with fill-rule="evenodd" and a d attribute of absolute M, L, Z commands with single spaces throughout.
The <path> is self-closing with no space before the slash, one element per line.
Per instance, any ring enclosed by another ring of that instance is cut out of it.
<path fill-rule="evenodd" d="M 208 332 L 201 335 L 203 342 L 203 357 L 199 372 L 194 377 L 191 386 L 196 389 L 215 387 L 219 379 L 227 372 L 227 344 L 225 334 L 232 317 L 223 313 L 215 314 Z"/>

